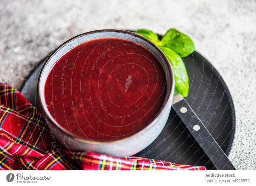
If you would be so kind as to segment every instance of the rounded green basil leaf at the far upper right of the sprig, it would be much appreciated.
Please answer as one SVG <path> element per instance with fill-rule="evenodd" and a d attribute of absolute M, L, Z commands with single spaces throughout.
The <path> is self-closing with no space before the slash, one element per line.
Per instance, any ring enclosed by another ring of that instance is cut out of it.
<path fill-rule="evenodd" d="M 195 46 L 191 38 L 174 28 L 171 28 L 165 33 L 161 43 L 165 47 L 175 51 L 182 58 L 187 57 L 195 51 Z"/>

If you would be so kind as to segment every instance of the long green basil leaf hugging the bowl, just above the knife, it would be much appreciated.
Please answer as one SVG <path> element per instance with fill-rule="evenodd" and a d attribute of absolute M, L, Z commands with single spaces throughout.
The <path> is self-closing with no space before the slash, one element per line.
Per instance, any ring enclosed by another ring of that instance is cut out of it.
<path fill-rule="evenodd" d="M 188 96 L 188 73 L 182 58 L 172 49 L 159 46 L 171 63 L 174 73 L 175 89 L 174 93 L 178 93 L 183 97 Z"/>

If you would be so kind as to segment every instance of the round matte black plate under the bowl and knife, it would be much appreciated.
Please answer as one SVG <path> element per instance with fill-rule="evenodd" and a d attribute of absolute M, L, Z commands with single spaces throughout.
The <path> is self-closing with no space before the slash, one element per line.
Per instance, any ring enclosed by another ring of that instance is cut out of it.
<path fill-rule="evenodd" d="M 37 80 L 45 60 L 37 64 L 20 89 L 37 109 Z M 235 138 L 236 116 L 228 87 L 212 64 L 198 52 L 193 52 L 183 60 L 190 87 L 186 100 L 222 150 L 229 155 Z M 171 112 L 162 133 L 146 149 L 134 156 L 214 169 L 200 146 L 179 123 L 178 118 Z"/>

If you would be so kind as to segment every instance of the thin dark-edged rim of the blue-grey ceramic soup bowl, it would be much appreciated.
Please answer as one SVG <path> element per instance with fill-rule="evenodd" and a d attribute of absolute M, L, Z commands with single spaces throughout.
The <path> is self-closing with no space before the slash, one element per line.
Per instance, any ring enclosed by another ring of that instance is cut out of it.
<path fill-rule="evenodd" d="M 44 65 L 42 66 L 42 69 L 40 71 L 39 77 L 38 77 L 38 82 L 37 82 L 37 92 L 39 93 L 41 90 L 40 88 L 40 84 L 41 84 L 41 77 L 44 71 L 45 66 L 47 65 L 48 61 L 51 59 L 51 57 L 57 53 L 63 46 L 67 45 L 68 43 L 71 43 L 72 41 L 78 39 L 81 36 L 84 35 L 89 35 L 89 34 L 93 34 L 93 33 L 98 33 L 98 32 L 120 32 L 120 33 L 124 33 L 124 34 L 129 34 L 132 35 L 134 37 L 139 37 L 140 39 L 143 39 L 144 41 L 148 42 L 150 45 L 152 45 L 155 49 L 157 49 L 160 54 L 162 55 L 162 57 L 164 58 L 164 61 L 167 63 L 170 75 L 171 75 L 171 82 L 170 82 L 170 89 L 166 89 L 166 93 L 165 93 L 165 100 L 167 99 L 167 101 L 162 104 L 162 107 L 160 108 L 159 112 L 157 112 L 157 114 L 152 118 L 152 120 L 150 122 L 148 122 L 148 124 L 146 124 L 144 127 L 140 128 L 138 131 L 134 132 L 134 134 L 129 135 L 127 137 L 121 138 L 121 139 L 117 139 L 117 140 L 110 140 L 110 141 L 98 141 L 98 140 L 91 140 L 91 139 L 86 139 L 86 138 L 82 138 L 80 136 L 76 136 L 73 135 L 71 133 L 69 133 L 65 128 L 63 128 L 62 126 L 60 126 L 56 120 L 52 119 L 51 117 L 51 113 L 49 112 L 49 110 L 47 109 L 45 111 L 44 107 L 43 107 L 43 103 L 42 103 L 42 97 L 40 96 L 40 94 L 37 94 L 38 96 L 38 102 L 39 102 L 39 106 L 40 109 L 42 111 L 42 115 L 44 116 L 44 118 L 47 118 L 48 120 L 50 120 L 49 124 L 50 125 L 54 125 L 54 127 L 58 128 L 59 133 L 60 131 L 62 133 L 64 133 L 65 135 L 74 138 L 75 140 L 79 141 L 79 142 L 83 142 L 83 143 L 88 143 L 88 144 L 109 144 L 109 143 L 120 143 L 126 140 L 129 140 L 130 138 L 134 138 L 136 136 L 140 136 L 140 134 L 142 134 L 144 131 L 148 130 L 149 128 L 153 127 L 156 119 L 161 115 L 161 113 L 163 113 L 163 110 L 167 108 L 167 106 L 172 101 L 172 99 L 170 99 L 172 97 L 172 95 L 174 94 L 174 74 L 173 74 L 173 70 L 171 67 L 171 64 L 168 60 L 168 58 L 165 56 L 164 52 L 152 41 L 148 40 L 147 38 L 138 35 L 134 32 L 130 32 L 130 31 L 126 31 L 126 30 L 118 30 L 118 29 L 101 29 L 101 30 L 93 30 L 93 31 L 89 31 L 89 32 L 85 32 L 83 34 L 80 35 L 76 35 L 74 37 L 72 37 L 71 39 L 68 39 L 66 42 L 62 43 L 59 47 L 57 47 L 46 59 L 46 61 L 44 62 Z M 136 42 L 135 42 L 136 43 Z M 80 43 L 82 44 L 82 43 Z M 153 54 L 154 55 L 154 54 Z M 166 82 L 168 82 L 168 79 L 166 79 Z M 44 90 L 43 90 L 44 91 Z M 45 104 L 45 103 L 44 103 Z M 49 115 L 50 117 L 47 117 L 47 115 Z M 61 134 L 61 133 L 60 133 Z"/>

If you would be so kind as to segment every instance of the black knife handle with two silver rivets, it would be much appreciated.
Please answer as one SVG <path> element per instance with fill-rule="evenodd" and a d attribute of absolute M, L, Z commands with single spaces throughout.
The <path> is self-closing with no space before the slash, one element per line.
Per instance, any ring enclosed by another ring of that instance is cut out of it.
<path fill-rule="evenodd" d="M 203 149 L 217 170 L 236 170 L 219 144 L 205 128 L 202 121 L 185 99 L 172 105 L 172 110 L 179 116 L 183 127 L 192 135 Z"/>

